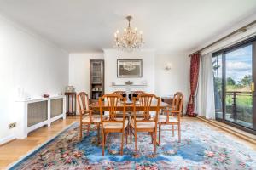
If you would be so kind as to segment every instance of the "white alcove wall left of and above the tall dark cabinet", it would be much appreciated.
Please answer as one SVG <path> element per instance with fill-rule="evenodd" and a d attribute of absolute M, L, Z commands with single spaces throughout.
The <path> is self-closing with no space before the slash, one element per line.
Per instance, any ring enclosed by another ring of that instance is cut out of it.
<path fill-rule="evenodd" d="M 90 95 L 90 59 L 104 59 L 103 53 L 69 55 L 69 85 Z"/>

